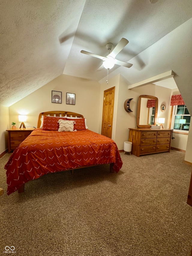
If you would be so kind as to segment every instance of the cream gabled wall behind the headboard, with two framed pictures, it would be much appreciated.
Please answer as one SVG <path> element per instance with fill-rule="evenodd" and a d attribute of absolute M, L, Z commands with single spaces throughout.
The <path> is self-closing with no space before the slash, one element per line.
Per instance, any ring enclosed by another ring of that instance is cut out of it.
<path fill-rule="evenodd" d="M 62 92 L 62 103 L 51 102 L 51 91 Z M 75 105 L 66 104 L 66 92 L 75 93 Z M 19 114 L 27 115 L 27 126 L 37 127 L 39 113 L 51 110 L 71 111 L 87 119 L 88 129 L 98 132 L 100 84 L 62 74 L 9 107 L 10 121 L 20 126 Z M 10 124 L 9 124 L 10 125 Z M 11 125 L 10 125 L 11 126 Z"/>

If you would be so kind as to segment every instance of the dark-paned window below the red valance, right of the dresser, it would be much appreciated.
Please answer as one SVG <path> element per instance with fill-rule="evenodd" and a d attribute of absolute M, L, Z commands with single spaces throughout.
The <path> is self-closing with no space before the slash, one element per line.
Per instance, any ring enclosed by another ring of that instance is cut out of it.
<path fill-rule="evenodd" d="M 190 114 L 187 110 L 186 105 L 175 105 L 173 106 L 173 118 L 171 129 L 178 132 L 189 131 L 190 125 Z"/>

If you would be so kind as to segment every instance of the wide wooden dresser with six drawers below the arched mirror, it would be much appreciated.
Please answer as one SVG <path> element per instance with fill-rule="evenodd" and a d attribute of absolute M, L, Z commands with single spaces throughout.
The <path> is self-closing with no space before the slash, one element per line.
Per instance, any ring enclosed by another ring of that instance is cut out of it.
<path fill-rule="evenodd" d="M 129 128 L 129 141 L 132 142 L 131 154 L 140 155 L 170 152 L 173 130 L 152 128 Z"/>

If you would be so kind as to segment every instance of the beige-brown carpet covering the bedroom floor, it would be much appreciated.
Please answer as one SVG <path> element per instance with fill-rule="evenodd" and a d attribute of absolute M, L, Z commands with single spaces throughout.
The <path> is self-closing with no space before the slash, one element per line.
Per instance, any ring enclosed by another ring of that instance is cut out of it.
<path fill-rule="evenodd" d="M 0 159 L 0 255 L 6 246 L 19 256 L 190 255 L 191 166 L 183 152 L 121 153 L 119 173 L 107 165 L 48 174 L 7 196 L 9 156 Z"/>

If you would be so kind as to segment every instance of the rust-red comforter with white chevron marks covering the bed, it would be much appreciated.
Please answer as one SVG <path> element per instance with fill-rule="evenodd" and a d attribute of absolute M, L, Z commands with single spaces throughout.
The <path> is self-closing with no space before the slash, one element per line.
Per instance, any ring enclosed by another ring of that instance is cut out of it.
<path fill-rule="evenodd" d="M 116 172 L 123 164 L 116 143 L 108 137 L 90 130 L 58 132 L 37 128 L 5 165 L 7 194 L 47 173 L 109 163 L 114 163 Z"/>

